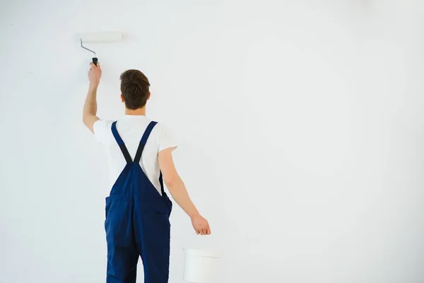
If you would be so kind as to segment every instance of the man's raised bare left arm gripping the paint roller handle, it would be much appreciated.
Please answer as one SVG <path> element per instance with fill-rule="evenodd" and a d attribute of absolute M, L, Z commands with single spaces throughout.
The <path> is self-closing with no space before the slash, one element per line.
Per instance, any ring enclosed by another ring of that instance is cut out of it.
<path fill-rule="evenodd" d="M 83 122 L 84 125 L 94 133 L 93 126 L 94 123 L 99 120 L 97 114 L 97 89 L 100 83 L 100 78 L 102 77 L 102 69 L 100 64 L 97 66 L 90 63 L 90 71 L 88 71 L 88 79 L 90 79 L 90 85 L 88 86 L 88 93 L 86 98 L 86 103 L 84 103 L 83 108 Z"/>

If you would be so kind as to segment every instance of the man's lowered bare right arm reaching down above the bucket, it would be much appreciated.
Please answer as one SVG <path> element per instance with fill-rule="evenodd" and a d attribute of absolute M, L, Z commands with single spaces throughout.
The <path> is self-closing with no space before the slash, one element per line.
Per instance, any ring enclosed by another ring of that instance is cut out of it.
<path fill-rule="evenodd" d="M 199 235 L 211 234 L 208 221 L 199 214 L 192 200 L 190 200 L 189 193 L 177 173 L 174 161 L 172 160 L 172 149 L 164 149 L 159 152 L 159 167 L 163 174 L 165 185 L 170 191 L 172 198 L 184 210 L 185 213 L 192 219 L 192 225 L 196 233 Z"/>

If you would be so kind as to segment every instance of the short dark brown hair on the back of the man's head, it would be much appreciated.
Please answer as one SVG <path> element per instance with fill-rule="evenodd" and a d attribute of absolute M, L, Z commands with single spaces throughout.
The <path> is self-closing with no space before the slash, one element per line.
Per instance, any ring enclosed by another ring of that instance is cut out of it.
<path fill-rule="evenodd" d="M 139 70 L 128 70 L 121 74 L 121 93 L 125 106 L 136 110 L 146 105 L 150 83 Z"/>

